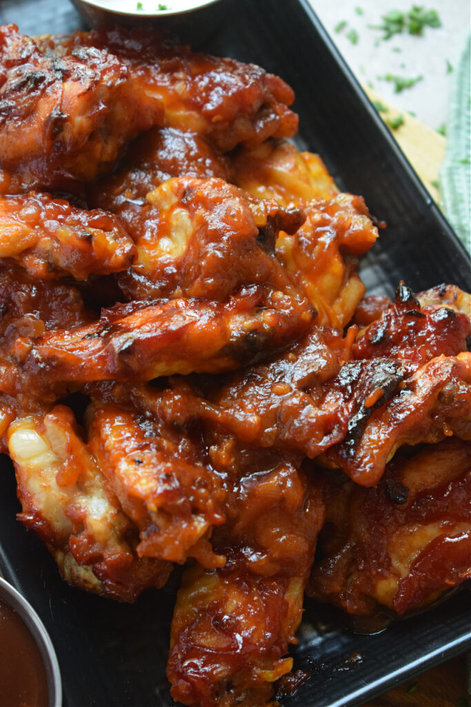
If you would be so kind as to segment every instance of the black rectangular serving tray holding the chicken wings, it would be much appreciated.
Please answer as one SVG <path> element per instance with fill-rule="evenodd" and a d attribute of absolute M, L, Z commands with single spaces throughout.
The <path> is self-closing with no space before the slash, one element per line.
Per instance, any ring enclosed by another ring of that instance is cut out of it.
<path fill-rule="evenodd" d="M 4 0 L 0 22 L 31 35 L 81 26 L 65 0 Z M 387 221 L 362 264 L 370 291 L 391 294 L 399 279 L 416 290 L 443 281 L 470 288 L 470 258 L 305 0 L 235 0 L 204 48 L 285 78 L 297 93 L 299 146 L 321 153 L 338 185 L 363 194 L 371 212 Z M 66 705 L 172 705 L 165 662 L 175 586 L 150 590 L 129 606 L 66 585 L 42 542 L 15 520 L 13 470 L 6 457 L 0 462 L 1 571 L 49 630 Z M 283 698 L 284 707 L 361 705 L 471 646 L 468 591 L 376 635 L 348 631 L 340 616 L 306 602 L 292 653 L 295 667 L 310 677 Z M 361 658 L 349 663 L 353 653 Z"/>

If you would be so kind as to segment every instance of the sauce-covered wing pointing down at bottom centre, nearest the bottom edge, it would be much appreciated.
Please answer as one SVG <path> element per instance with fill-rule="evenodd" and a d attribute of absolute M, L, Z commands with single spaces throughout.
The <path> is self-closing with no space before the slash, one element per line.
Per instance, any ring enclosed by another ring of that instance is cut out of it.
<path fill-rule="evenodd" d="M 227 440 L 221 444 L 213 457 L 228 469 L 234 462 Z M 186 705 L 264 705 L 273 682 L 292 668 L 284 656 L 296 642 L 323 504 L 289 461 L 261 471 L 255 458 L 229 526 L 213 539 L 226 565 L 187 570 L 177 595 L 167 677 L 174 699 Z"/>

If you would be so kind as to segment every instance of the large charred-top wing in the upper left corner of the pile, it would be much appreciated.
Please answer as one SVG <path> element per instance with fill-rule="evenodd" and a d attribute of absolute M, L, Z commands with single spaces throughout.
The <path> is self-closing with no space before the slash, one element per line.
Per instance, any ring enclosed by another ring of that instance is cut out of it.
<path fill-rule="evenodd" d="M 60 56 L 0 30 L 0 191 L 73 189 L 112 168 L 119 150 L 160 124 L 162 106 L 106 48 Z"/>

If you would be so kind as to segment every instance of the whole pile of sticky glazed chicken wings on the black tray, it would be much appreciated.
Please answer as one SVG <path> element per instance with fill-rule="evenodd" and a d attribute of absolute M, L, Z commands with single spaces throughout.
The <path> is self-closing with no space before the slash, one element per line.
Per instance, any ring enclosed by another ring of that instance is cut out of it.
<path fill-rule="evenodd" d="M 376 225 L 288 140 L 293 99 L 144 31 L 0 28 L 19 518 L 115 600 L 185 564 L 185 705 L 271 703 L 305 591 L 404 614 L 470 576 L 470 296 L 364 298 Z"/>

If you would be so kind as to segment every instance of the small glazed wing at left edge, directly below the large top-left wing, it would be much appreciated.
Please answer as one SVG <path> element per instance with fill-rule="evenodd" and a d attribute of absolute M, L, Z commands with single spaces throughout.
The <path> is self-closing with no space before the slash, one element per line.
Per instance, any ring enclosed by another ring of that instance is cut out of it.
<path fill-rule="evenodd" d="M 126 270 L 135 257 L 131 238 L 107 211 L 83 211 L 35 192 L 0 197 L 0 264 L 15 260 L 42 280 L 85 280 Z"/>

